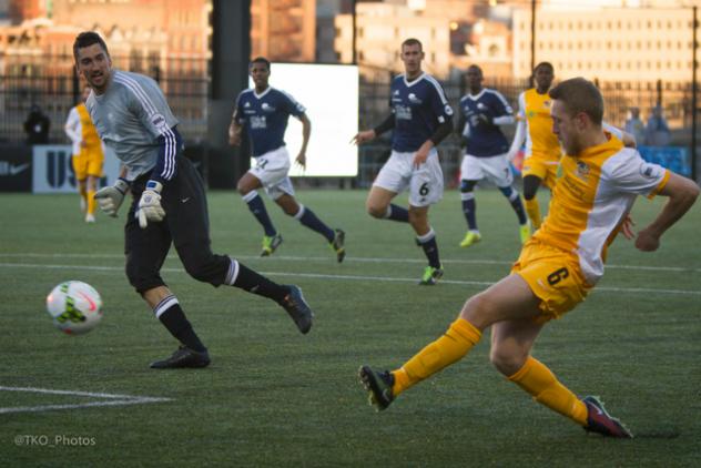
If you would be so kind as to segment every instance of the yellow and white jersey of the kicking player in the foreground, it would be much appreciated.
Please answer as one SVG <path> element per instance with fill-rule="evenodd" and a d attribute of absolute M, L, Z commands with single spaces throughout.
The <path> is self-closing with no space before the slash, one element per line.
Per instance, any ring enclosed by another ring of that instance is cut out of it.
<path fill-rule="evenodd" d="M 607 133 L 607 143 L 560 160 L 548 217 L 534 234 L 546 244 L 571 252 L 593 286 L 603 275 L 607 246 L 618 234 L 637 195 L 654 196 L 669 171 L 646 162 Z"/>

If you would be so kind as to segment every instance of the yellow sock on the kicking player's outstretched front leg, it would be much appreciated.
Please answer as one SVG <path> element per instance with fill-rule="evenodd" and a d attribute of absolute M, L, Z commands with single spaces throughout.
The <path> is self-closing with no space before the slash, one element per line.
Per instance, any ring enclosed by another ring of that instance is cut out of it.
<path fill-rule="evenodd" d="M 481 332 L 464 318 L 458 318 L 443 335 L 418 352 L 399 369 L 394 370 L 395 384 L 392 388 L 396 397 L 407 388 L 444 367 L 460 360 L 479 342 Z"/>

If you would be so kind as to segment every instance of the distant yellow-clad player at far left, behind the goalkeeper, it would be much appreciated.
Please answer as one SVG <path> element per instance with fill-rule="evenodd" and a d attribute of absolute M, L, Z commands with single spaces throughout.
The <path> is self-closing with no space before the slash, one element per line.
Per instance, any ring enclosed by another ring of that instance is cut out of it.
<path fill-rule="evenodd" d="M 85 87 L 81 102 L 69 112 L 64 129 L 65 134 L 73 142 L 72 162 L 80 193 L 80 206 L 85 212 L 85 223 L 94 223 L 94 195 L 98 181 L 102 177 L 104 151 L 95 125 L 85 108 L 84 101 L 89 95 L 90 88 Z"/>

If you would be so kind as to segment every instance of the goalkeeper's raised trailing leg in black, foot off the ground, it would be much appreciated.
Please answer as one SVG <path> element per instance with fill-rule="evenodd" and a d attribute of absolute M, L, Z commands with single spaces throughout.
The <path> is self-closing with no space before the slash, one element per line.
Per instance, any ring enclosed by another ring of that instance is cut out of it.
<path fill-rule="evenodd" d="M 186 200 L 186 202 L 182 202 Z M 193 278 L 213 286 L 227 284 L 280 304 L 302 333 L 312 327 L 312 311 L 294 285 L 281 285 L 234 258 L 212 253 L 204 184 L 190 161 L 179 160 L 179 171 L 161 199 L 164 223 L 183 266 Z"/>

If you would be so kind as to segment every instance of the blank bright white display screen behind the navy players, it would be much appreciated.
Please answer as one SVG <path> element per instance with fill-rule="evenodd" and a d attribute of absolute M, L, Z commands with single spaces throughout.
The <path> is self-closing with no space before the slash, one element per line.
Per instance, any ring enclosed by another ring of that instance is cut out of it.
<path fill-rule="evenodd" d="M 350 139 L 358 132 L 358 68 L 273 63 L 268 83 L 292 94 L 306 108 L 306 115 L 312 121 L 306 170 L 303 170 L 295 163 L 302 147 L 302 122 L 289 118 L 285 132 L 285 144 L 292 162 L 289 175 L 356 176 L 358 149 L 350 144 Z M 255 87 L 251 78 L 248 87 Z M 251 166 L 255 166 L 253 159 Z"/>

